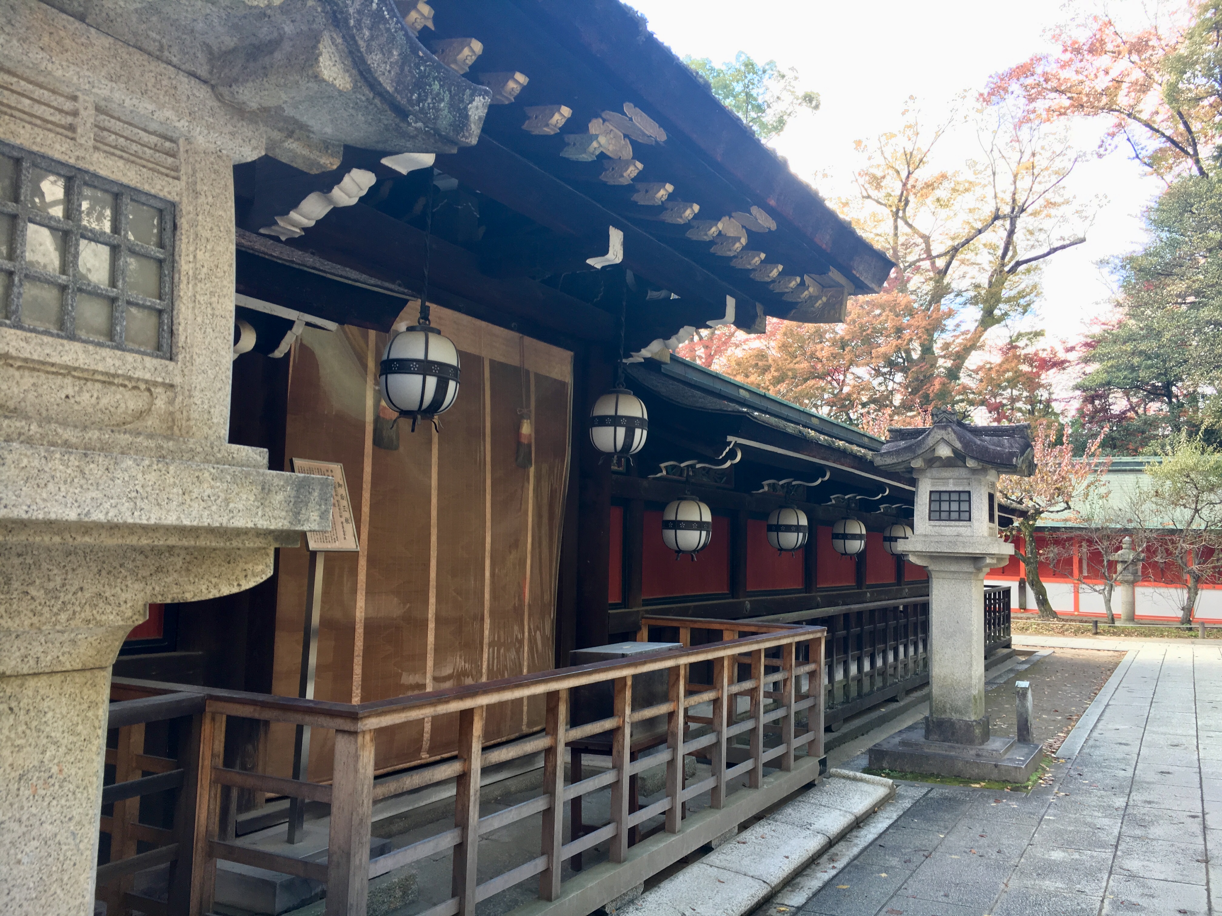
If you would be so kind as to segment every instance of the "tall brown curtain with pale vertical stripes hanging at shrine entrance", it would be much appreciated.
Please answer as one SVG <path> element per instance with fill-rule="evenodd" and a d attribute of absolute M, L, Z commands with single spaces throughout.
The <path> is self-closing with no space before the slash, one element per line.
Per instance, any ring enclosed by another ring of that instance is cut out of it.
<path fill-rule="evenodd" d="M 286 454 L 343 463 L 362 535 L 359 554 L 325 561 L 319 700 L 384 700 L 552 666 L 572 354 L 435 305 L 433 324 L 462 360 L 440 432 L 385 416 L 376 364 L 386 335 L 307 329 L 293 348 Z M 516 460 L 521 409 L 533 420 L 530 468 Z M 287 696 L 297 694 L 307 565 L 304 545 L 280 551 L 274 689 Z M 541 703 L 489 711 L 492 741 L 541 725 Z M 457 717 L 379 732 L 376 767 L 452 754 L 456 736 Z M 312 779 L 330 778 L 331 747 L 316 730 Z M 273 725 L 271 758 L 273 772 L 288 773 L 290 727 Z"/>

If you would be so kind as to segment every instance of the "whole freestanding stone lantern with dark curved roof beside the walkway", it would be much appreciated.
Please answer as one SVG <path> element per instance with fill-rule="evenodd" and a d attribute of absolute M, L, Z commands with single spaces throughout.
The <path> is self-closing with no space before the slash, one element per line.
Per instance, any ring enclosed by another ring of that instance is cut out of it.
<path fill-rule="evenodd" d="M 1023 782 L 1037 745 L 991 738 L 985 713 L 984 580 L 1012 545 L 997 535 L 997 479 L 1034 470 L 1028 427 L 970 426 L 949 412 L 892 429 L 879 468 L 916 478 L 906 552 L 930 578 L 930 714 L 870 749 L 870 766 Z"/>

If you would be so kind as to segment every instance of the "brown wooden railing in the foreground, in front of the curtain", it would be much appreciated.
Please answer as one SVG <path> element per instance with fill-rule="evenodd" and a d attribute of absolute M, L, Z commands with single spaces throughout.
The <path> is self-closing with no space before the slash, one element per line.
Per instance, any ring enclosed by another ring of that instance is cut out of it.
<path fill-rule="evenodd" d="M 676 620 L 653 618 L 654 625 Z M 699 627 L 704 622 L 679 622 Z M 574 668 L 472 684 L 448 690 L 362 705 L 298 700 L 237 691 L 204 691 L 199 732 L 202 772 L 191 846 L 191 916 L 214 906 L 218 860 L 229 860 L 326 884 L 326 914 L 365 911 L 369 882 L 424 857 L 451 851 L 450 896 L 422 916 L 473 916 L 475 905 L 522 882 L 538 881 L 538 912 L 585 916 L 628 892 L 645 878 L 776 804 L 802 785 L 816 782 L 822 758 L 824 629 L 717 622 L 728 641 L 689 645 L 637 656 L 631 661 L 599 662 Z M 739 635 L 741 634 L 741 635 Z M 688 640 L 689 641 L 689 640 Z M 633 702 L 633 679 L 665 672 L 665 702 L 642 708 Z M 699 682 L 693 672 L 701 673 Z M 804 685 L 815 689 L 804 689 Z M 573 688 L 606 685 L 613 695 L 609 718 L 584 724 L 569 722 Z M 499 703 L 541 696 L 546 724 L 533 738 L 484 746 L 484 723 Z M 378 732 L 406 722 L 457 713 L 458 754 L 453 760 L 374 782 Z M 299 782 L 222 766 L 227 716 L 327 728 L 335 733 L 334 779 L 330 784 Z M 665 749 L 637 757 L 634 727 L 665 717 Z M 207 736 L 211 736 L 210 740 Z M 565 778 L 565 749 L 595 735 L 610 735 L 611 766 L 576 784 Z M 480 772 L 543 751 L 540 794 L 495 813 L 480 815 Z M 684 765 L 695 756 L 709 765 L 709 776 L 686 784 Z M 662 798 L 639 810 L 633 802 L 634 778 L 666 767 Z M 433 835 L 370 859 L 373 806 L 381 799 L 456 780 L 452 826 Z M 744 785 L 745 784 L 745 785 Z M 609 788 L 610 820 L 565 839 L 565 802 Z M 220 833 L 222 794 L 249 789 L 330 805 L 330 846 L 325 863 L 293 859 L 224 839 Z M 706 801 L 688 815 L 695 800 Z M 517 865 L 500 874 L 480 868 L 480 839 L 525 818 L 541 818 L 536 852 L 522 850 Z M 661 818 L 662 831 L 633 845 L 633 828 Z M 606 846 L 607 863 L 579 874 L 566 872 L 574 856 Z M 181 844 L 180 844 L 181 849 Z M 182 852 L 178 852 L 182 859 Z M 479 876 L 479 877 L 477 877 Z"/>

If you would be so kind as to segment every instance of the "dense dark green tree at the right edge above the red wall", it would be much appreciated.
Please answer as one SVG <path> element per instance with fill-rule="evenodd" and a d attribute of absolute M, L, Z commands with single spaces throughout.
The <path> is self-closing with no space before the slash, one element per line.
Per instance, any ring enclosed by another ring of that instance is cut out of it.
<path fill-rule="evenodd" d="M 1146 227 L 1146 247 L 1116 263 L 1119 321 L 1083 344 L 1079 437 L 1106 426 L 1111 453 L 1222 440 L 1222 178 L 1178 178 Z"/>

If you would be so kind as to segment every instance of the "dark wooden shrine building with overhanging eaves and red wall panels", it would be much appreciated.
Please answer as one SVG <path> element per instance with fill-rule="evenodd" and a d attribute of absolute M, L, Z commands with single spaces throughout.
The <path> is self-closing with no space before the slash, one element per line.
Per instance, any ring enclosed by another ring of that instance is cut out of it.
<path fill-rule="evenodd" d="M 741 618 L 925 594 L 921 572 L 882 551 L 912 484 L 870 469 L 877 440 L 660 362 L 694 327 L 836 321 L 890 261 L 617 2 L 453 2 L 406 38 L 489 87 L 478 142 L 431 169 L 347 143 L 330 169 L 271 155 L 235 166 L 236 318 L 254 343 L 233 362 L 231 441 L 286 470 L 292 458 L 342 463 L 362 545 L 326 567 L 315 697 L 545 671 L 634 633 L 646 606 Z M 312 195 L 349 192 L 310 210 Z M 426 266 L 462 382 L 440 431 L 409 432 L 381 403 L 378 370 L 391 327 L 414 324 Z M 627 383 L 650 434 L 612 467 L 587 423 L 615 382 L 621 309 L 623 352 L 638 360 Z M 523 412 L 528 468 L 516 456 Z M 728 447 L 737 464 L 692 480 L 714 509 L 711 543 L 678 563 L 659 519 L 684 485 L 657 475 Z M 809 492 L 756 492 L 820 478 Z M 763 523 L 793 496 L 820 526 L 809 550 L 777 557 Z M 831 524 L 848 515 L 873 529 L 864 558 L 831 548 Z M 304 545 L 280 550 L 276 573 L 246 592 L 154 608 L 116 673 L 295 695 L 307 558 Z M 539 714 L 519 710 L 496 734 Z M 452 741 L 452 725 L 422 724 L 382 743 L 378 768 Z"/>

